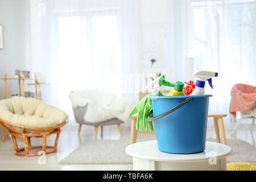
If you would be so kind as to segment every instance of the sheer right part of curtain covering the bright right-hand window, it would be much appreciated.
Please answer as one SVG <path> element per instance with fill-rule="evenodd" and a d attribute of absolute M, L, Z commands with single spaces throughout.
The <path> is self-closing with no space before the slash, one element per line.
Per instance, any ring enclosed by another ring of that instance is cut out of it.
<path fill-rule="evenodd" d="M 206 87 L 209 110 L 228 113 L 232 86 L 256 84 L 255 1 L 193 0 L 192 9 L 195 67 L 219 73 Z"/>

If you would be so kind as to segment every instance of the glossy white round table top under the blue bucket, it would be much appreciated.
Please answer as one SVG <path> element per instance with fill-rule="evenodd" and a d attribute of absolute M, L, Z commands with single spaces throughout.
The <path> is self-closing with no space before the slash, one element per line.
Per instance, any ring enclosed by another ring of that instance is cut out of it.
<path fill-rule="evenodd" d="M 226 158 L 232 153 L 229 146 L 207 141 L 205 150 L 197 154 L 168 154 L 158 150 L 156 140 L 138 142 L 130 144 L 125 148 L 126 154 L 147 160 L 165 161 L 165 162 L 199 162 L 209 160 L 213 155 L 216 159 Z"/>

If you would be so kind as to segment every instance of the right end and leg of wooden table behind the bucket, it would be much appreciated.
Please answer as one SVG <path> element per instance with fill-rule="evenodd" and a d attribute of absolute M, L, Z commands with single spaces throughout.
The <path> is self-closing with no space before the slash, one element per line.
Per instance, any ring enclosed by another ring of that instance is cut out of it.
<path fill-rule="evenodd" d="M 222 117 L 226 117 L 225 113 L 208 113 L 208 117 L 214 119 L 214 127 L 216 133 L 216 139 L 218 143 L 226 144 L 225 129 Z"/>

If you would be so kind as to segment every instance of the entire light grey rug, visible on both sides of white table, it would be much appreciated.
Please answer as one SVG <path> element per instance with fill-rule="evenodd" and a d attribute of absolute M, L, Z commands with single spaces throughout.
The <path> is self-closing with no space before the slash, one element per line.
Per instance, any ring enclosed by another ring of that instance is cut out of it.
<path fill-rule="evenodd" d="M 215 142 L 216 139 L 208 138 Z M 227 162 L 256 162 L 256 147 L 241 139 L 226 139 L 233 153 Z M 133 159 L 125 153 L 129 140 L 88 140 L 60 164 L 133 164 Z"/>

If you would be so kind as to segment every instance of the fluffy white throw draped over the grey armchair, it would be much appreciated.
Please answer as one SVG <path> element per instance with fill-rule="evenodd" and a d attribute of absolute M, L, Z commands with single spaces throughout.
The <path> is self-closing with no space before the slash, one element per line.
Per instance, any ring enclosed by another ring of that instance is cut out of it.
<path fill-rule="evenodd" d="M 112 93 L 102 90 L 75 90 L 69 94 L 69 98 L 74 110 L 86 107 L 83 119 L 84 122 L 89 123 L 103 122 L 113 118 L 126 122 L 131 107 L 130 101 L 117 98 Z M 77 117 L 75 112 L 74 114 L 76 121 L 77 118 L 81 118 Z"/>

